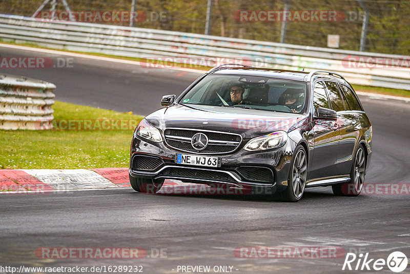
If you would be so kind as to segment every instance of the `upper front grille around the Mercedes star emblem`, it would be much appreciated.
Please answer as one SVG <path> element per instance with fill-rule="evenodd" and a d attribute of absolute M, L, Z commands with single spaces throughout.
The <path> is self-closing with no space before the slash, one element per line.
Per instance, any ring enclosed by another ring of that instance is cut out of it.
<path fill-rule="evenodd" d="M 208 137 L 208 146 L 203 150 L 196 150 L 191 145 L 192 136 L 196 133 L 203 133 Z M 229 153 L 234 151 L 242 141 L 239 134 L 191 129 L 166 129 L 164 135 L 170 147 L 202 154 Z"/>

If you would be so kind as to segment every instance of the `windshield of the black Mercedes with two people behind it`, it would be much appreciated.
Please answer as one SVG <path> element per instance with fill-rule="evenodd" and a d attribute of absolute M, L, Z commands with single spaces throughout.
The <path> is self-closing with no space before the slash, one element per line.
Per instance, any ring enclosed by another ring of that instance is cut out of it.
<path fill-rule="evenodd" d="M 302 113 L 306 84 L 250 75 L 207 75 L 179 103 Z"/>

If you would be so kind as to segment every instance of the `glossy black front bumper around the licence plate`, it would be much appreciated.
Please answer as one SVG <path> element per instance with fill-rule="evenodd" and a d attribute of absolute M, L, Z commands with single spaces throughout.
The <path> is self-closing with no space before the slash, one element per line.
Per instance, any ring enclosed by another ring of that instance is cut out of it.
<path fill-rule="evenodd" d="M 221 166 L 211 168 L 176 164 L 177 153 L 194 153 L 179 151 L 163 143 L 154 143 L 134 136 L 131 143 L 129 173 L 135 178 L 173 179 L 187 183 L 283 190 L 288 184 L 290 162 L 296 144 L 288 140 L 284 146 L 277 149 L 250 152 L 242 149 L 245 143 L 247 140 L 232 153 L 212 155 L 220 158 Z"/>

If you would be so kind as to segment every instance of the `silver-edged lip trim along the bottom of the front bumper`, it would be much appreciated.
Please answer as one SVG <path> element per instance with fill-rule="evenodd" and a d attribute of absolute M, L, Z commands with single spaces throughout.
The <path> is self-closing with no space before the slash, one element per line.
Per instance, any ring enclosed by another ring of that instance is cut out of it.
<path fill-rule="evenodd" d="M 129 170 L 131 176 L 135 177 L 137 175 L 144 175 L 144 176 L 150 176 L 150 177 L 154 177 L 154 179 L 186 179 L 186 180 L 191 180 L 191 181 L 204 181 L 201 179 L 196 179 L 196 178 L 189 178 L 189 177 L 178 177 L 178 176 L 158 176 L 158 174 L 166 169 L 166 168 L 186 168 L 186 169 L 197 169 L 197 170 L 209 170 L 209 171 L 216 171 L 216 172 L 222 172 L 222 173 L 226 173 L 228 175 L 230 175 L 235 182 L 225 182 L 225 181 L 214 181 L 214 180 L 206 180 L 207 182 L 210 183 L 219 183 L 219 184 L 228 184 L 228 185 L 233 185 L 236 187 L 240 187 L 243 188 L 245 185 L 247 186 L 261 186 L 261 187 L 273 187 L 276 185 L 276 183 L 273 184 L 262 184 L 262 183 L 255 183 L 255 182 L 246 182 L 246 181 L 241 181 L 239 178 L 237 178 L 237 175 L 235 175 L 233 172 L 231 171 L 227 171 L 227 170 L 215 170 L 215 169 L 208 169 L 208 168 L 197 168 L 197 167 L 186 167 L 186 166 L 176 166 L 176 165 L 166 165 L 161 167 L 159 170 L 154 171 L 154 172 L 150 172 L 150 171 L 136 171 L 136 170 Z"/>

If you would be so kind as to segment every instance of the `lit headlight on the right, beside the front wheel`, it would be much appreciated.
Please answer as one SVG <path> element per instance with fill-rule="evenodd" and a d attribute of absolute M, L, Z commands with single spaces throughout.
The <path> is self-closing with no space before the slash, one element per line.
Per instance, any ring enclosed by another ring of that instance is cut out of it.
<path fill-rule="evenodd" d="M 281 147 L 286 143 L 288 134 L 284 131 L 275 131 L 268 135 L 256 137 L 248 142 L 243 148 L 248 151 L 267 150 Z"/>

